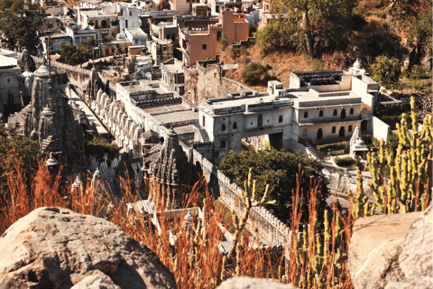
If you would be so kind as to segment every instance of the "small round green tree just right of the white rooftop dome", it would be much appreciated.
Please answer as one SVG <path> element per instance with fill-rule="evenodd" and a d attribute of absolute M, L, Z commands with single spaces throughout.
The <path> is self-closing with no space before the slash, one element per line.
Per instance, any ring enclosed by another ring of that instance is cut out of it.
<path fill-rule="evenodd" d="M 399 82 L 400 61 L 396 58 L 389 59 L 386 56 L 378 56 L 373 63 L 373 79 L 383 87 L 390 87 Z"/>

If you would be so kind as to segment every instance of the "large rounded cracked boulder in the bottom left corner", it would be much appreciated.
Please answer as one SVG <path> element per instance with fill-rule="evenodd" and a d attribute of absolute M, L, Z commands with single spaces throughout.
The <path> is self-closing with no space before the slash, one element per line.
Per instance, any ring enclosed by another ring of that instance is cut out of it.
<path fill-rule="evenodd" d="M 176 288 L 158 256 L 105 219 L 40 208 L 0 238 L 0 288 Z"/>

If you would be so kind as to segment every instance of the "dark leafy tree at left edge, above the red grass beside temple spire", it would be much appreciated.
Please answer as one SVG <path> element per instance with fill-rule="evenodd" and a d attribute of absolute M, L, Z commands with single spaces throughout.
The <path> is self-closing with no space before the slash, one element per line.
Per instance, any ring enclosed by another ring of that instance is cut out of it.
<path fill-rule="evenodd" d="M 8 164 L 14 165 L 14 152 L 19 156 L 30 184 L 30 178 L 38 168 L 38 160 L 44 156 L 39 154 L 39 144 L 0 124 L 0 195 L 7 190 Z"/>

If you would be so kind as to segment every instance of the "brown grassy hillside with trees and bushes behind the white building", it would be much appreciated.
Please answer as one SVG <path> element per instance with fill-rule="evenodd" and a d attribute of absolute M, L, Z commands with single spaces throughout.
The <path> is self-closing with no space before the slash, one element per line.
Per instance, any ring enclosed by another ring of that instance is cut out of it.
<path fill-rule="evenodd" d="M 289 87 L 291 71 L 347 69 L 356 59 L 373 71 L 373 63 L 382 56 L 396 60 L 399 71 L 403 61 L 410 61 L 401 75 L 404 81 L 415 65 L 432 55 L 431 8 L 427 0 L 274 1 L 272 19 L 255 33 L 253 47 L 222 52 L 225 63 L 239 63 L 226 77 L 264 91 L 260 81 L 242 77 L 251 62 L 269 64 L 269 79 Z M 381 85 L 389 84 L 385 82 Z M 421 82 L 420 87 L 428 86 L 431 82 Z M 405 88 L 394 89 L 403 93 Z M 411 86 L 406 89 L 415 92 Z"/>

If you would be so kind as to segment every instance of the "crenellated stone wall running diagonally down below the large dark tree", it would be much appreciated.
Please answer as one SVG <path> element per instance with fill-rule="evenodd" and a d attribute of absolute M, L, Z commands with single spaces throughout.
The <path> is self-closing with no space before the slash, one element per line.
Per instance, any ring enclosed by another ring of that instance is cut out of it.
<path fill-rule="evenodd" d="M 229 210 L 235 210 L 239 218 L 244 213 L 244 204 L 241 201 L 243 190 L 221 171 L 217 170 L 213 163 L 210 163 L 197 150 L 187 144 L 181 144 L 186 150 L 187 155 L 192 157 L 193 163 L 199 165 L 205 175 L 209 188 Z M 192 155 L 191 155 L 192 154 Z M 247 228 L 253 233 L 257 229 L 259 238 L 270 246 L 290 245 L 290 228 L 281 222 L 280 219 L 272 215 L 269 210 L 263 207 L 254 207 L 250 211 L 250 218 L 247 222 Z M 253 219 L 253 221 L 251 220 Z"/>

